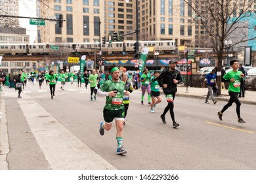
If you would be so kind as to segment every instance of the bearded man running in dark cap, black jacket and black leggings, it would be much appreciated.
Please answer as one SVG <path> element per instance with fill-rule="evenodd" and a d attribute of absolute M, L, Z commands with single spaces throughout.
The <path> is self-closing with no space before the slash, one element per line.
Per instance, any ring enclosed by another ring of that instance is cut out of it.
<path fill-rule="evenodd" d="M 177 61 L 171 60 L 169 61 L 169 69 L 163 70 L 163 72 L 158 76 L 158 84 L 163 88 L 163 92 L 165 93 L 166 100 L 168 102 L 167 107 L 161 114 L 160 118 L 164 124 L 165 114 L 170 110 L 171 119 L 173 120 L 173 127 L 179 126 L 175 121 L 175 116 L 173 112 L 174 104 L 173 101 L 175 99 L 175 93 L 177 92 L 177 84 L 182 82 L 181 73 L 175 69 Z"/>

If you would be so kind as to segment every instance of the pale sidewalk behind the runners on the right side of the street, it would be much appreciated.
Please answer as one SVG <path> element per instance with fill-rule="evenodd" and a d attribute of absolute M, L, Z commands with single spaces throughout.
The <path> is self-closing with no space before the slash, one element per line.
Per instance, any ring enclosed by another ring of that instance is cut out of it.
<path fill-rule="evenodd" d="M 192 97 L 198 99 L 205 99 L 208 89 L 207 88 L 194 88 L 186 86 L 177 87 L 177 96 L 180 97 Z M 221 95 L 215 97 L 217 101 L 228 101 L 229 100 L 228 90 L 221 90 Z M 209 97 L 211 100 L 211 97 Z M 245 97 L 239 98 L 241 103 L 256 105 L 256 92 L 255 91 L 245 91 Z"/>

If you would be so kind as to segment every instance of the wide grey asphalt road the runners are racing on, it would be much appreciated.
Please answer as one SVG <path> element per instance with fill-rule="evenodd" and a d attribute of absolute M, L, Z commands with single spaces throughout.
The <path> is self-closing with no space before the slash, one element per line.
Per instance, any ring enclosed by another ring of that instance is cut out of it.
<path fill-rule="evenodd" d="M 128 153 L 117 156 L 116 125 L 103 137 L 98 133 L 104 97 L 90 101 L 89 90 L 76 84 L 64 91 L 58 84 L 54 99 L 46 85 L 39 90 L 28 84 L 22 99 L 10 91 L 1 95 L 9 137 L 9 150 L 1 151 L 1 159 L 6 156 L 8 169 L 256 169 L 255 105 L 242 104 L 247 123 L 238 124 L 235 105 L 221 122 L 216 112 L 226 102 L 207 105 L 203 99 L 176 97 L 180 126 L 174 129 L 169 112 L 167 124 L 160 119 L 167 105 L 163 95 L 150 113 L 147 97 L 140 105 L 141 92 L 135 91 L 123 127 Z"/>

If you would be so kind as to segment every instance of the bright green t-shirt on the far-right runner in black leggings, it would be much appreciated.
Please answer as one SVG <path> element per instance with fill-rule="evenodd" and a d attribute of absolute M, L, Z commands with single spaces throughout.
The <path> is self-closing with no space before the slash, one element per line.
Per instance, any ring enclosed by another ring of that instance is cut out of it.
<path fill-rule="evenodd" d="M 223 76 L 223 78 L 226 80 L 230 80 L 232 78 L 235 79 L 234 82 L 229 83 L 228 91 L 240 93 L 241 74 L 242 74 L 241 71 L 236 71 L 236 72 L 230 71 Z"/>

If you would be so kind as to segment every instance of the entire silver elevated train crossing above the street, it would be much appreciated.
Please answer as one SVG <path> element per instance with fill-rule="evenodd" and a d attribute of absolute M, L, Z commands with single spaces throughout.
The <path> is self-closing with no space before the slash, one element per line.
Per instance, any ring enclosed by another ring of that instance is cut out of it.
<path fill-rule="evenodd" d="M 75 48 L 74 48 L 75 44 Z M 102 54 L 134 54 L 135 41 L 123 42 L 106 42 L 101 44 Z M 139 41 L 139 50 L 144 47 L 150 47 L 154 51 L 160 53 L 173 53 L 175 52 L 175 41 Z M 33 44 L 0 44 L 0 55 L 37 55 L 37 54 L 58 54 L 59 52 L 87 52 L 93 54 L 99 52 L 100 44 L 98 42 L 68 42 L 68 43 L 49 43 L 47 48 L 46 43 L 33 43 Z"/>

